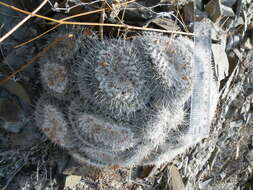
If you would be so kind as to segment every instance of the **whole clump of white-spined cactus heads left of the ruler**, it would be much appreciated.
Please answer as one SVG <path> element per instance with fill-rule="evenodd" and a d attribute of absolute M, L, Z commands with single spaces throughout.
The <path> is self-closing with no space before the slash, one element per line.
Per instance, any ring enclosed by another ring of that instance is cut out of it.
<path fill-rule="evenodd" d="M 161 164 L 181 153 L 192 42 L 154 33 L 132 41 L 77 36 L 71 56 L 48 56 L 40 66 L 49 96 L 35 119 L 45 135 L 96 166 Z"/>

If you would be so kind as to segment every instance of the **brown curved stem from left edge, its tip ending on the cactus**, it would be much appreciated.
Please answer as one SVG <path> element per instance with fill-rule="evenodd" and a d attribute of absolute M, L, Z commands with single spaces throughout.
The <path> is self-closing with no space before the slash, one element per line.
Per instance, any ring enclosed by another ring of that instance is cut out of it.
<path fill-rule="evenodd" d="M 73 35 L 67 35 L 67 37 L 73 37 Z M 6 78 L 4 78 L 3 80 L 0 80 L 0 85 L 2 85 L 3 83 L 7 82 L 8 80 L 10 80 L 12 77 L 14 77 L 17 73 L 23 71 L 25 68 L 27 68 L 28 66 L 30 66 L 34 61 L 36 61 L 39 57 L 42 57 L 43 55 L 46 54 L 46 52 L 52 48 L 53 46 L 55 46 L 57 43 L 59 43 L 60 41 L 64 40 L 66 38 L 65 37 L 61 37 L 61 38 L 57 38 L 56 40 L 54 40 L 48 47 L 45 47 L 40 53 L 38 53 L 37 56 L 35 56 L 34 58 L 32 58 L 30 61 L 28 61 L 26 64 L 22 65 L 18 70 L 14 71 L 12 74 L 10 74 L 9 76 L 7 76 Z"/>

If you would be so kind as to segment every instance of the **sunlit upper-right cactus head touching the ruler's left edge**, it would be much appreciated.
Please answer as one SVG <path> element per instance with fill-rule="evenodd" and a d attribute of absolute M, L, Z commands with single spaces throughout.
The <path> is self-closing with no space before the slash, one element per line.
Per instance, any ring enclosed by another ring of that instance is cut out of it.
<path fill-rule="evenodd" d="M 181 103 L 184 103 L 192 88 L 192 41 L 185 37 L 169 38 L 145 33 L 136 43 L 151 58 L 154 77 L 159 80 L 161 87 L 171 89 L 173 98 L 180 97 L 183 100 Z"/>

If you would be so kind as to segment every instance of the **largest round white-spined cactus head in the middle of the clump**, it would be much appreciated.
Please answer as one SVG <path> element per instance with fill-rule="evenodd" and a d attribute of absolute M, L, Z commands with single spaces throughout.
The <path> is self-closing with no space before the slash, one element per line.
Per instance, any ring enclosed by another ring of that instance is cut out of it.
<path fill-rule="evenodd" d="M 96 104 L 114 115 L 128 116 L 144 108 L 151 91 L 148 64 L 134 44 L 107 40 L 86 48 L 90 53 L 80 59 L 77 72 L 81 94 L 95 96 Z"/>

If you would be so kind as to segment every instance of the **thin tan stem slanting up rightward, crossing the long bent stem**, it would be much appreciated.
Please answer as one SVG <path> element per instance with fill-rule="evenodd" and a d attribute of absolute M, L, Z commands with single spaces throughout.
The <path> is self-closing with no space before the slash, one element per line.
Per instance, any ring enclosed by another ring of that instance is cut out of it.
<path fill-rule="evenodd" d="M 124 3 L 119 3 L 119 5 L 127 5 L 127 4 L 129 4 L 129 3 L 134 2 L 134 1 L 136 1 L 136 0 L 127 1 L 127 2 L 124 2 Z M 69 19 L 71 19 L 71 18 L 76 18 L 76 17 L 80 17 L 80 16 L 84 16 L 84 15 L 90 15 L 90 14 L 93 14 L 93 13 L 97 13 L 97 12 L 101 12 L 101 11 L 106 11 L 106 10 L 109 10 L 109 9 L 110 9 L 110 8 L 103 8 L 103 9 L 98 9 L 98 10 L 89 11 L 89 12 L 85 12 L 85 13 L 80 13 L 80 14 L 76 14 L 76 15 L 73 15 L 73 16 L 65 17 L 65 18 L 63 18 L 63 19 L 61 19 L 61 20 L 62 20 L 62 21 L 64 21 L 64 20 L 69 20 Z M 41 38 L 42 36 L 46 35 L 47 33 L 51 32 L 52 30 L 58 28 L 58 27 L 61 26 L 61 25 L 62 25 L 62 24 L 57 24 L 57 25 L 55 25 L 54 27 L 50 28 L 49 30 L 43 32 L 42 34 L 40 34 L 40 35 L 38 35 L 38 36 L 36 36 L 36 37 L 34 37 L 34 38 L 32 38 L 32 39 L 26 41 L 26 42 L 23 42 L 23 43 L 21 43 L 21 44 L 15 46 L 14 48 L 19 48 L 19 47 L 24 46 L 24 45 L 26 45 L 26 44 L 28 44 L 28 43 L 34 41 L 34 40 L 37 40 L 37 39 Z"/>

